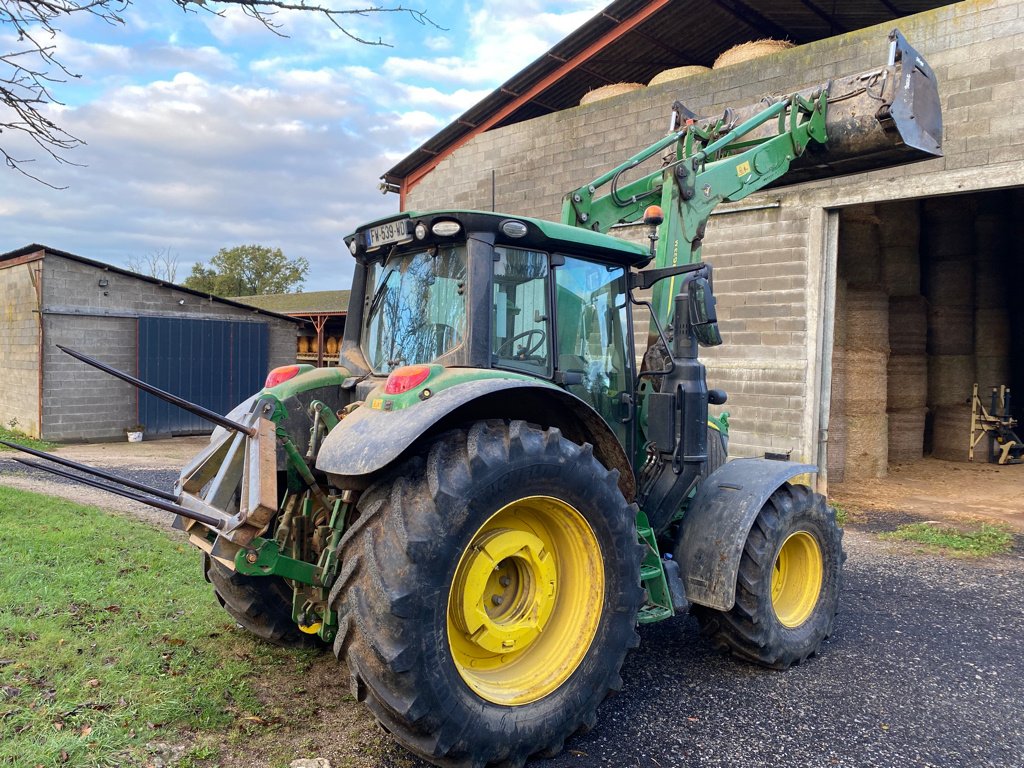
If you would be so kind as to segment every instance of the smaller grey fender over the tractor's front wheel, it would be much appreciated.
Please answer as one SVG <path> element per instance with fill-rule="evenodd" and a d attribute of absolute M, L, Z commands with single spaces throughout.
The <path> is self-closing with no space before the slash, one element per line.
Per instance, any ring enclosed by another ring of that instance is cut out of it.
<path fill-rule="evenodd" d="M 736 578 L 746 537 L 768 498 L 812 464 L 735 459 L 708 475 L 683 517 L 676 559 L 686 599 L 717 610 L 736 600 Z"/>

